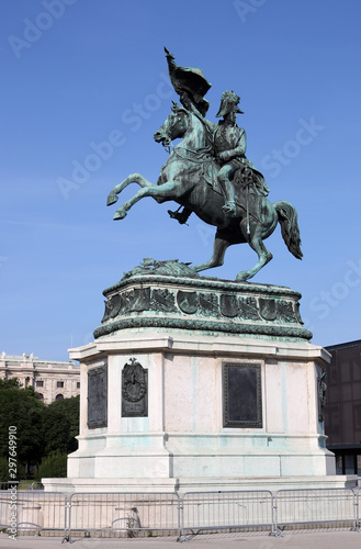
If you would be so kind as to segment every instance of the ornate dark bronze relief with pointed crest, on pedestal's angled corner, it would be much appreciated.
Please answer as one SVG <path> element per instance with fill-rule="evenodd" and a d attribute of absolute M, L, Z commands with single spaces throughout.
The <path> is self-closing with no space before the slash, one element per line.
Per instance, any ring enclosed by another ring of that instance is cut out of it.
<path fill-rule="evenodd" d="M 148 370 L 131 358 L 122 371 L 122 417 L 147 417 Z"/>

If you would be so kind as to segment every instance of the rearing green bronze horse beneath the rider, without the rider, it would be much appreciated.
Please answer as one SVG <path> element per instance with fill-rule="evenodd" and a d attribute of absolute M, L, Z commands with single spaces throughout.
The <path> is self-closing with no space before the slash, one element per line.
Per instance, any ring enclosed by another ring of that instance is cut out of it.
<path fill-rule="evenodd" d="M 165 146 L 176 138 L 182 141 L 172 148 L 161 168 L 157 184 L 140 173 L 132 173 L 114 187 L 108 197 L 108 205 L 114 204 L 117 194 L 132 182 L 142 187 L 115 212 L 114 220 L 123 220 L 127 211 L 144 197 L 153 197 L 159 203 L 171 200 L 193 211 L 202 221 L 217 227 L 213 255 L 208 261 L 193 267 L 196 272 L 223 265 L 228 246 L 248 243 L 257 253 L 258 262 L 251 269 L 240 271 L 236 280 L 252 278 L 272 259 L 272 254 L 266 248 L 263 240 L 273 233 L 278 222 L 281 224 L 282 236 L 289 250 L 297 259 L 302 258 L 297 213 L 289 202 L 279 201 L 271 204 L 263 197 L 260 219 L 247 214 L 245 206 L 239 204 L 236 217 L 228 217 L 223 212 L 223 193 L 202 176 L 205 166 L 210 167 L 214 177 L 219 168 L 212 157 L 208 127 L 195 114 L 173 103 L 171 113 L 154 138 Z"/>

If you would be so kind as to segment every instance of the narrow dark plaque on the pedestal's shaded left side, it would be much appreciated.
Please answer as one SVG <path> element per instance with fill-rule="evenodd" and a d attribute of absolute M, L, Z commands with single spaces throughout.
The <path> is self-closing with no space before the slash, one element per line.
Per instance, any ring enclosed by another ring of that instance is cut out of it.
<path fill-rule="evenodd" d="M 108 426 L 108 367 L 88 371 L 88 428 Z"/>

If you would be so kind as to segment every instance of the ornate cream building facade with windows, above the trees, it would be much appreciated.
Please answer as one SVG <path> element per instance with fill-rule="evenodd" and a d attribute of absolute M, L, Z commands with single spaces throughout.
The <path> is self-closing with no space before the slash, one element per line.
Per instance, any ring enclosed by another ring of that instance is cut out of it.
<path fill-rule="evenodd" d="M 80 366 L 71 361 L 40 360 L 32 355 L 0 355 L 0 378 L 18 378 L 32 386 L 45 404 L 80 394 Z"/>

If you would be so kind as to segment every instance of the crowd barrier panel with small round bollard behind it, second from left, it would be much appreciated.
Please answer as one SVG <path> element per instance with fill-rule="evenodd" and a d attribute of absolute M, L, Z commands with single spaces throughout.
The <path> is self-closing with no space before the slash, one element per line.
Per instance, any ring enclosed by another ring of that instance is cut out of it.
<path fill-rule="evenodd" d="M 72 533 L 102 533 L 108 537 L 157 536 L 159 531 L 179 535 L 179 496 L 176 493 L 76 493 L 69 498 Z"/>

